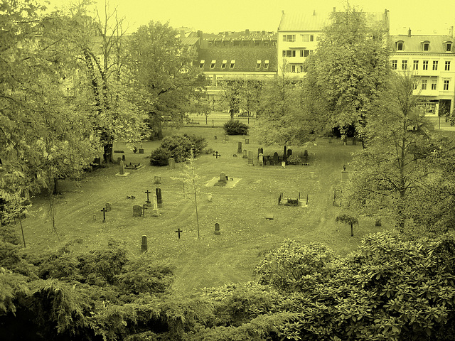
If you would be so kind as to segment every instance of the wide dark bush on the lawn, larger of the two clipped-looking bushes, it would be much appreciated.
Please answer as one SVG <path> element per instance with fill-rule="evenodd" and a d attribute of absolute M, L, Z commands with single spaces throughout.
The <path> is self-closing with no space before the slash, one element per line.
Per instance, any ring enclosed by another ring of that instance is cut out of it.
<path fill-rule="evenodd" d="M 191 157 L 191 151 L 196 156 L 207 146 L 205 138 L 196 135 L 173 135 L 163 139 L 159 148 L 151 153 L 152 166 L 167 166 L 168 159 L 174 158 L 176 162 L 186 161 Z"/>

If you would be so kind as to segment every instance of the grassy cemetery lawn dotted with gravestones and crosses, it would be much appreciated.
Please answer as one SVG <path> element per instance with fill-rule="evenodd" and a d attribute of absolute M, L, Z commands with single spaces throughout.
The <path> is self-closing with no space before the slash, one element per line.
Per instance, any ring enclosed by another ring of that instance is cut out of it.
<path fill-rule="evenodd" d="M 109 239 L 124 244 L 130 257 L 141 256 L 141 236 L 148 237 L 151 259 L 168 261 L 176 267 L 173 289 L 181 293 L 194 293 L 200 288 L 222 286 L 225 283 L 246 282 L 254 278 L 255 266 L 270 249 L 285 239 L 302 243 L 321 242 L 344 256 L 353 251 L 360 239 L 371 232 L 387 228 L 375 227 L 374 221 L 360 218 L 354 236 L 350 227 L 336 224 L 335 218 L 343 207 L 333 207 L 333 190 L 341 188 L 343 165 L 350 161 L 350 153 L 361 146 L 343 146 L 340 139 L 318 139 L 317 146 L 291 147 L 296 151 L 309 151 L 309 166 L 257 166 L 259 145 L 250 136 L 245 145 L 242 136 L 230 136 L 223 143 L 221 128 L 194 127 L 179 132 L 205 136 L 208 148 L 221 154 L 215 158 L 202 154 L 196 160 L 198 168 L 198 216 L 200 238 L 197 238 L 196 210 L 193 202 L 182 196 L 181 167 L 175 169 L 149 166 L 151 150 L 159 141 L 144 144 L 145 153 L 133 153 L 127 146 L 114 144 L 115 150 L 124 150 L 126 164 L 145 164 L 139 170 L 126 170 L 126 177 L 115 176 L 117 165 L 87 173 L 80 181 L 63 180 L 63 195 L 55 200 L 55 228 L 51 232 L 48 217 L 49 204 L 45 197 L 33 197 L 33 206 L 23 220 L 26 251 L 40 253 L 68 246 L 71 250 L 90 251 L 105 249 Z M 215 140 L 214 136 L 218 139 Z M 248 137 L 248 136 L 247 136 Z M 242 154 L 233 157 L 237 142 L 242 148 L 253 151 L 255 166 L 248 166 Z M 282 153 L 282 146 L 262 146 L 264 155 Z M 114 153 L 114 159 L 121 154 Z M 220 172 L 229 178 L 241 180 L 233 188 L 206 187 L 205 184 Z M 349 171 L 349 167 L 348 167 Z M 310 172 L 314 172 L 311 176 Z M 154 185 L 154 175 L 161 175 L 161 185 Z M 133 217 L 133 205 L 142 205 L 146 190 L 154 194 L 161 187 L 163 208 L 161 216 L 152 217 L 151 209 L 145 217 Z M 302 199 L 309 197 L 308 207 L 278 205 L 279 194 Z M 127 196 L 134 195 L 135 199 Z M 212 200 L 208 200 L 212 195 Z M 102 208 L 112 203 L 102 222 Z M 272 214 L 273 220 L 265 216 Z M 94 215 L 96 219 L 94 220 Z M 220 235 L 214 234 L 215 223 L 220 224 Z M 181 239 L 175 232 L 183 230 Z M 16 224 L 18 234 L 21 233 Z"/>

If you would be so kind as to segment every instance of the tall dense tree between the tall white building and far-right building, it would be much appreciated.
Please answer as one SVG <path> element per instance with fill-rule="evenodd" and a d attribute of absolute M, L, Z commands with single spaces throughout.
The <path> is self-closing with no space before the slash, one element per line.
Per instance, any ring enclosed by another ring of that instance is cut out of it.
<path fill-rule="evenodd" d="M 368 13 L 348 6 L 331 14 L 315 53 L 307 61 L 315 98 L 323 94 L 330 124 L 346 134 L 354 126 L 363 137 L 366 114 L 389 74 L 387 27 Z"/>

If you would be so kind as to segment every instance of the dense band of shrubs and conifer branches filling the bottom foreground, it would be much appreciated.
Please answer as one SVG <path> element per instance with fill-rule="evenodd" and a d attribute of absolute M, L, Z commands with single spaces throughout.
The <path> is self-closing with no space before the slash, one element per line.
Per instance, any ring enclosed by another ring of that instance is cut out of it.
<path fill-rule="evenodd" d="M 169 290 L 170 266 L 127 259 L 119 244 L 27 258 L 2 243 L 12 246 L 0 264 L 2 340 L 455 339 L 451 234 L 372 234 L 345 258 L 287 240 L 257 281 L 192 297 Z"/>

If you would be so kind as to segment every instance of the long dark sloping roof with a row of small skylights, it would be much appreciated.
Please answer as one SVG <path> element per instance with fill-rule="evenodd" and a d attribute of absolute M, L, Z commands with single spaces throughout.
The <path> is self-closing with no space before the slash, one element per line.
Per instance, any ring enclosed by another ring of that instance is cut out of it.
<path fill-rule="evenodd" d="M 196 66 L 200 65 L 200 60 L 205 61 L 203 71 L 276 72 L 277 48 L 201 48 Z M 212 60 L 216 60 L 214 68 L 210 68 Z M 221 68 L 223 60 L 227 61 L 225 69 Z M 231 60 L 235 60 L 233 69 L 230 68 Z M 259 69 L 256 68 L 258 60 L 262 61 Z M 264 69 L 264 60 L 269 60 L 268 69 Z"/>

